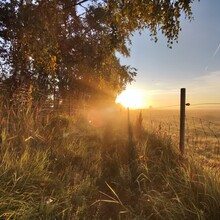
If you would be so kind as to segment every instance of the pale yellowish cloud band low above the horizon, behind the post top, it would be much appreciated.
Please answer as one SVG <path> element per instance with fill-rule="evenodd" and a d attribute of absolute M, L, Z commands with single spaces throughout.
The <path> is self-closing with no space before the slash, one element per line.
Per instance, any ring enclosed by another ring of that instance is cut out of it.
<path fill-rule="evenodd" d="M 154 101 L 153 105 L 166 106 L 178 105 L 180 99 L 180 88 L 186 88 L 187 102 L 209 103 L 219 102 L 220 71 L 210 72 L 206 75 L 186 79 L 179 82 L 166 83 L 166 86 L 154 87 L 148 90 L 148 94 Z"/>

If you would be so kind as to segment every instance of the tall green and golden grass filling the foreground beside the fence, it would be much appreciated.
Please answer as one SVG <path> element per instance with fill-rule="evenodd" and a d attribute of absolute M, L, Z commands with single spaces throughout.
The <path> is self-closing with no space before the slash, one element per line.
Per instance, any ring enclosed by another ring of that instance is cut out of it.
<path fill-rule="evenodd" d="M 1 111 L 0 219 L 220 219 L 218 176 L 145 113 L 91 112 Z"/>

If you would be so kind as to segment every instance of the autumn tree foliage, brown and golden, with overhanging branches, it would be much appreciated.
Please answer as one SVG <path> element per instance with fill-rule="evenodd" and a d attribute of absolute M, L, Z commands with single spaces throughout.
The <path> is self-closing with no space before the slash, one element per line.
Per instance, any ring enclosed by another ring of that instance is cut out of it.
<path fill-rule="evenodd" d="M 129 37 L 145 28 L 171 46 L 193 1 L 1 0 L 1 81 L 11 94 L 33 86 L 59 99 L 114 97 L 136 75 L 116 52 L 128 56 Z"/>

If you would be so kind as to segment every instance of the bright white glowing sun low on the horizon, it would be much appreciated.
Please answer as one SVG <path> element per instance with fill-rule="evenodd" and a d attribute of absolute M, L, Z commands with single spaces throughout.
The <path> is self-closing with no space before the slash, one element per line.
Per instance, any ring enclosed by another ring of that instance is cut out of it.
<path fill-rule="evenodd" d="M 143 92 L 137 89 L 126 89 L 117 96 L 115 102 L 132 109 L 143 108 L 146 104 Z"/>

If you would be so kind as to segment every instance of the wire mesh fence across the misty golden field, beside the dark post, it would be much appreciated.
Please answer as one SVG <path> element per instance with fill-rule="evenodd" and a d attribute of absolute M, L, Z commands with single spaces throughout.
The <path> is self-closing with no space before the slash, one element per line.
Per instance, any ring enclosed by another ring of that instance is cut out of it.
<path fill-rule="evenodd" d="M 220 108 L 207 106 L 220 103 L 204 103 L 206 108 L 186 109 L 185 156 L 190 157 L 213 172 L 220 173 Z M 202 106 L 201 104 L 197 104 Z M 172 139 L 180 141 L 179 110 L 151 109 L 144 115 L 144 126 Z"/>

